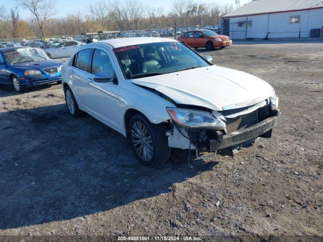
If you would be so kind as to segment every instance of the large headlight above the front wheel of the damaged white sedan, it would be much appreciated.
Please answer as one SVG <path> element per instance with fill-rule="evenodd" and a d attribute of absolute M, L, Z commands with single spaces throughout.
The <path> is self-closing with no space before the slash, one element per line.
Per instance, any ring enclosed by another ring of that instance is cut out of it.
<path fill-rule="evenodd" d="M 220 118 L 214 117 L 211 113 L 201 110 L 185 108 L 167 108 L 172 120 L 185 128 L 205 128 L 224 130 L 226 124 Z"/>

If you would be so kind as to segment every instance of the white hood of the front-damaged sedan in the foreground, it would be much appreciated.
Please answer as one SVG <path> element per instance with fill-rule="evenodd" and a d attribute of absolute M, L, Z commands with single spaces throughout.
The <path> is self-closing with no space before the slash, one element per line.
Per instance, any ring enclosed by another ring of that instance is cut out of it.
<path fill-rule="evenodd" d="M 249 106 L 274 94 L 260 78 L 216 65 L 131 81 L 155 89 L 176 103 L 214 111 Z"/>

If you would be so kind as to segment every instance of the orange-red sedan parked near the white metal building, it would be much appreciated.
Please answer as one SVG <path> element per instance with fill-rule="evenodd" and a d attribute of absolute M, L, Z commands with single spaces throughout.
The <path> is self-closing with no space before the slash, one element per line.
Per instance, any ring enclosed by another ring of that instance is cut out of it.
<path fill-rule="evenodd" d="M 207 50 L 212 50 L 214 47 L 224 48 L 232 44 L 229 36 L 219 35 L 208 29 L 188 31 L 177 40 L 190 47 L 205 47 Z"/>

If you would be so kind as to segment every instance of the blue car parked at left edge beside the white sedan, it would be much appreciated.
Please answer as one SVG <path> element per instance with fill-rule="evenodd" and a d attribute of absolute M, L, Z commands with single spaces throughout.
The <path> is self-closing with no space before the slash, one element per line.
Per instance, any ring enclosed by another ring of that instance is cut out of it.
<path fill-rule="evenodd" d="M 13 47 L 0 49 L 0 84 L 17 92 L 27 87 L 62 82 L 62 64 L 50 59 L 43 49 Z"/>

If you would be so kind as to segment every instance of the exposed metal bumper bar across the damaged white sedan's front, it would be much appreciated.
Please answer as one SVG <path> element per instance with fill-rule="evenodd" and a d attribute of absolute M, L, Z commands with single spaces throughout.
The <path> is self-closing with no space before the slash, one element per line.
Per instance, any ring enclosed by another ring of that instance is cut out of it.
<path fill-rule="evenodd" d="M 271 116 L 256 125 L 249 128 L 243 129 L 241 131 L 236 131 L 231 134 L 223 136 L 223 139 L 210 139 L 209 140 L 209 150 L 221 150 L 228 147 L 232 147 L 243 142 L 256 139 L 257 137 L 263 135 L 267 131 L 272 130 L 281 121 L 281 112 L 277 113 L 277 116 Z"/>

